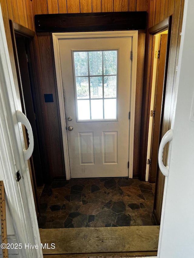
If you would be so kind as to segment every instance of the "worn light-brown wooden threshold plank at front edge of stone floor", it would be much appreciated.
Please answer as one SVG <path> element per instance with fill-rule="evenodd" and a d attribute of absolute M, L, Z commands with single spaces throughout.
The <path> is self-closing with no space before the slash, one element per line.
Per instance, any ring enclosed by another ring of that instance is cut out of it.
<path fill-rule="evenodd" d="M 40 229 L 40 238 L 55 244 L 43 254 L 150 252 L 157 251 L 159 226 Z"/>

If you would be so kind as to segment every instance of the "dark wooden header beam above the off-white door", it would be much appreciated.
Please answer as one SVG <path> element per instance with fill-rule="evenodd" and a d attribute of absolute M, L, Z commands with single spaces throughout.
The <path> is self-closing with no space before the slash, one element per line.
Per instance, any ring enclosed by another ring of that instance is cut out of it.
<path fill-rule="evenodd" d="M 36 32 L 145 30 L 146 25 L 146 11 L 35 15 Z"/>

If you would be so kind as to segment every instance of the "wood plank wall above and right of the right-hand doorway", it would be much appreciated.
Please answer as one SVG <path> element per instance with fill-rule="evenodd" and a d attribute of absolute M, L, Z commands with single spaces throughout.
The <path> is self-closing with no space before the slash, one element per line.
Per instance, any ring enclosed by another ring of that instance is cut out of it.
<path fill-rule="evenodd" d="M 149 28 L 172 15 L 169 67 L 162 135 L 170 129 L 175 105 L 174 93 L 176 92 L 176 66 L 178 65 L 179 57 L 183 8 L 184 0 L 150 0 L 149 3 Z"/>

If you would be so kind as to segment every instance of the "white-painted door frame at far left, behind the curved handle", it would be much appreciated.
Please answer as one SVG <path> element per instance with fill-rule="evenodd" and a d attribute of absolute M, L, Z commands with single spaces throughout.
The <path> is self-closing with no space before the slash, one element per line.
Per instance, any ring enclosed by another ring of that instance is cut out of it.
<path fill-rule="evenodd" d="M 0 173 L 5 185 L 6 201 L 11 213 L 19 257 L 42 258 L 40 235 L 30 181 L 28 162 L 24 161 L 25 149 L 21 123 L 16 110 L 22 110 L 9 59 L 5 28 L 0 6 Z M 15 179 L 20 169 L 21 180 Z M 37 244 L 40 248 L 25 248 L 25 243 Z"/>

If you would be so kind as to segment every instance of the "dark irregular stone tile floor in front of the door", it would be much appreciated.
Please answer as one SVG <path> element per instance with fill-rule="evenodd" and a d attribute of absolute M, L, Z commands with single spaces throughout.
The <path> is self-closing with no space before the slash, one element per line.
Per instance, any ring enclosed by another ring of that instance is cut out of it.
<path fill-rule="evenodd" d="M 39 199 L 39 228 L 155 225 L 155 184 L 129 178 L 53 181 Z"/>

